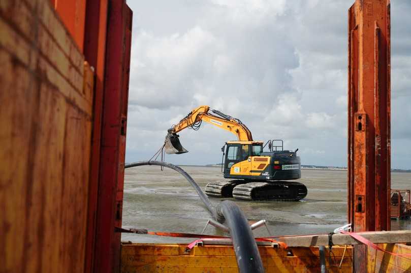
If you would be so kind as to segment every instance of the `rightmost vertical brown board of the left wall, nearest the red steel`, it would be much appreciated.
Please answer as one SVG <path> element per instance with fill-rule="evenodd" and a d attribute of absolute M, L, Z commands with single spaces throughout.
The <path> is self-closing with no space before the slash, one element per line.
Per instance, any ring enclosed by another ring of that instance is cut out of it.
<path fill-rule="evenodd" d="M 69 106 L 66 115 L 64 144 L 64 182 L 60 192 L 62 221 L 60 232 L 64 244 L 60 252 L 69 252 L 61 265 L 72 272 L 83 271 L 86 236 L 88 184 L 88 162 L 91 127 L 84 114 Z M 62 269 L 63 269 L 62 268 Z"/>

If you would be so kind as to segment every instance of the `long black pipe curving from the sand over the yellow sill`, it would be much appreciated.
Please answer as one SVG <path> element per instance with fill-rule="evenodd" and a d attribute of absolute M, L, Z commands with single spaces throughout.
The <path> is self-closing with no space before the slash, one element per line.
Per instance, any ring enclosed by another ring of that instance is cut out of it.
<path fill-rule="evenodd" d="M 231 239 L 233 240 L 239 271 L 241 273 L 264 272 L 264 266 L 258 251 L 256 240 L 254 239 L 254 236 L 252 236 L 252 231 L 248 225 L 247 218 L 245 218 L 244 213 L 236 203 L 232 201 L 223 201 L 219 203 L 216 208 L 214 208 L 196 181 L 194 181 L 194 179 L 183 169 L 171 163 L 159 161 L 140 161 L 127 164 L 124 166 L 124 169 L 144 165 L 167 167 L 184 176 L 185 179 L 187 179 L 187 181 L 196 189 L 199 197 L 213 218 L 219 222 L 224 222 L 225 219 L 227 220 L 227 225 L 230 228 Z"/>

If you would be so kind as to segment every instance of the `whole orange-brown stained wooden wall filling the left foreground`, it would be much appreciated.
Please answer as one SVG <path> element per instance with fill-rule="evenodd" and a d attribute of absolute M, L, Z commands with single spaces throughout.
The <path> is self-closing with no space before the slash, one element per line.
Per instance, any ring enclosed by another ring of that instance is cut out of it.
<path fill-rule="evenodd" d="M 92 76 L 49 0 L 0 1 L 0 272 L 83 271 Z"/>

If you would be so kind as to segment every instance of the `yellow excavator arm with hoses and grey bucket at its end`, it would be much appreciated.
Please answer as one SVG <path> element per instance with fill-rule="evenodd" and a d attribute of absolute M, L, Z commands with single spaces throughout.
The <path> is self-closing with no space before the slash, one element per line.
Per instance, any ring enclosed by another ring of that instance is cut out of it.
<path fill-rule="evenodd" d="M 218 110 L 210 109 L 207 105 L 202 105 L 193 109 L 178 124 L 168 130 L 165 140 L 166 153 L 187 152 L 181 146 L 177 133 L 187 127 L 198 130 L 203 121 L 233 133 L 240 141 L 252 141 L 250 130 L 240 120 Z"/>

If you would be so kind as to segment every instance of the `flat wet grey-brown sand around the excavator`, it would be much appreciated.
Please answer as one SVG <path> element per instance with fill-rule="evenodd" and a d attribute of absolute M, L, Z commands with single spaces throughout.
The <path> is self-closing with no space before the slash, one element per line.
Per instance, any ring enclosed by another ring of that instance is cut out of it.
<path fill-rule="evenodd" d="M 208 182 L 223 180 L 218 167 L 182 166 L 204 189 Z M 411 189 L 411 173 L 392 173 L 392 188 Z M 272 235 L 302 235 L 331 232 L 346 224 L 346 171 L 302 170 L 298 180 L 308 188 L 299 202 L 235 201 L 249 221 L 265 219 Z M 216 205 L 226 199 L 210 198 Z M 210 218 L 208 211 L 191 185 L 177 172 L 160 167 L 143 166 L 125 170 L 123 227 L 146 228 L 150 231 L 201 233 Z M 392 220 L 392 230 L 410 229 L 411 220 Z M 225 235 L 213 226 L 205 233 Z M 268 236 L 258 228 L 255 236 Z M 122 234 L 122 241 L 140 243 L 190 242 L 146 235 Z"/>

